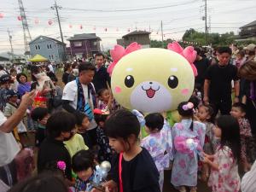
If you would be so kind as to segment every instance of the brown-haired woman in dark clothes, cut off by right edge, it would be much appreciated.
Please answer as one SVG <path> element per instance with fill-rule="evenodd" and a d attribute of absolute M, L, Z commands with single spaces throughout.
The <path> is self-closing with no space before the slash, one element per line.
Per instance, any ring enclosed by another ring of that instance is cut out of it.
<path fill-rule="evenodd" d="M 241 98 L 247 106 L 247 119 L 251 124 L 253 135 L 256 135 L 256 62 L 246 61 L 239 69 L 239 76 L 245 79 Z"/>

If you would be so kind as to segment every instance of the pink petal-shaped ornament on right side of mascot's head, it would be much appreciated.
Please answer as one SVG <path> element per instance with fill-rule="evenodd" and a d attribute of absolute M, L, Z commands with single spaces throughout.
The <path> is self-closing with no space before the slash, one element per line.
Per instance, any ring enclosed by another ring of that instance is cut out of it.
<path fill-rule="evenodd" d="M 192 46 L 188 46 L 185 49 L 183 49 L 180 44 L 178 44 L 176 41 L 173 42 L 172 44 L 168 44 L 167 45 L 167 49 L 172 50 L 176 53 L 178 53 L 179 55 L 183 55 L 183 57 L 189 61 L 190 66 L 192 67 L 194 76 L 197 76 L 197 69 L 194 65 L 194 61 L 196 58 L 196 51 L 194 49 L 194 47 Z"/>

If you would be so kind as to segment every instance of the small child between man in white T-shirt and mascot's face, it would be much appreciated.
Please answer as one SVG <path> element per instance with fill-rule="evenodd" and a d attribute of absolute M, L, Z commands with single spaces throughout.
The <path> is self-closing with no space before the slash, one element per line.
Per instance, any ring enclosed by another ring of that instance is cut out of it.
<path fill-rule="evenodd" d="M 107 112 L 112 112 L 117 109 L 117 105 L 111 95 L 110 91 L 103 88 L 98 91 L 98 103 L 97 107 Z"/>

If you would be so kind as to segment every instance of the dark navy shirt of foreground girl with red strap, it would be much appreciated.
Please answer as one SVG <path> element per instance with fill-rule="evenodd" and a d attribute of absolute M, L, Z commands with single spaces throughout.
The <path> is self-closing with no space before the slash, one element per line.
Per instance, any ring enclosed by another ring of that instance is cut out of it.
<path fill-rule="evenodd" d="M 119 154 L 113 156 L 113 181 L 119 183 Z M 154 160 L 143 148 L 130 161 L 122 160 L 122 182 L 124 192 L 160 192 L 159 172 Z"/>

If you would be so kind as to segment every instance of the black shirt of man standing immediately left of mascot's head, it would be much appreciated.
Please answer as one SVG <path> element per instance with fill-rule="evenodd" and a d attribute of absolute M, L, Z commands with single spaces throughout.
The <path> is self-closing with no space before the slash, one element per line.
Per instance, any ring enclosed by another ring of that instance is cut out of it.
<path fill-rule="evenodd" d="M 103 88 L 108 89 L 108 85 L 110 86 L 110 77 L 106 67 L 102 66 L 96 71 L 92 83 L 95 86 L 96 93 Z"/>

